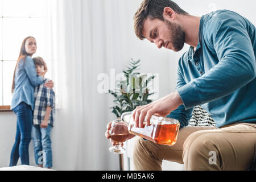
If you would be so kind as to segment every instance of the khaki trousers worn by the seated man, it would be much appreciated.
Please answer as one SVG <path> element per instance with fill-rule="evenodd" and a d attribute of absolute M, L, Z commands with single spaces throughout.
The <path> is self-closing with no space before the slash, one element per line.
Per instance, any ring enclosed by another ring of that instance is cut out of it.
<path fill-rule="evenodd" d="M 217 127 L 184 127 L 174 146 L 137 137 L 135 170 L 162 170 L 162 160 L 184 164 L 185 170 L 246 170 L 255 159 L 256 123 Z"/>

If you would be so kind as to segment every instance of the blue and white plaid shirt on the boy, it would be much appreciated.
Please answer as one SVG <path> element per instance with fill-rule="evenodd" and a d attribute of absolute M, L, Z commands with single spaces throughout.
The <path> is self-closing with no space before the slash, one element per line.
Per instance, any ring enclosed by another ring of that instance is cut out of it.
<path fill-rule="evenodd" d="M 55 93 L 53 89 L 47 89 L 46 86 L 44 86 L 44 83 L 47 81 L 48 79 L 44 78 L 44 82 L 35 87 L 35 109 L 33 117 L 34 125 L 40 125 L 44 120 L 47 106 L 52 107 L 48 123 L 53 126 L 53 121 L 55 120 Z"/>

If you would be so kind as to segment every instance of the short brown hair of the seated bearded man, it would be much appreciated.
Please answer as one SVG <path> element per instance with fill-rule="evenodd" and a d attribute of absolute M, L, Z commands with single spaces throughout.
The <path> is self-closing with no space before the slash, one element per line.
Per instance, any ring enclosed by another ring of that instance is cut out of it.
<path fill-rule="evenodd" d="M 164 7 L 171 7 L 177 14 L 188 15 L 186 11 L 181 9 L 175 2 L 171 0 L 143 0 L 141 6 L 134 15 L 134 31 L 137 37 L 144 39 L 142 35 L 142 28 L 144 20 L 148 17 L 150 19 L 158 18 L 164 21 L 163 10 Z"/>

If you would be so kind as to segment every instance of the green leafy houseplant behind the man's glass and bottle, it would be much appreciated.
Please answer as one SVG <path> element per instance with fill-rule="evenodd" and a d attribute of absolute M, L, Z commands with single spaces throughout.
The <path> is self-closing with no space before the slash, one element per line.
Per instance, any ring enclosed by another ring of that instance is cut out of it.
<path fill-rule="evenodd" d="M 155 76 L 148 77 L 146 74 L 137 72 L 140 61 L 131 59 L 126 69 L 123 69 L 125 80 L 119 81 L 115 86 L 115 90 L 109 90 L 109 93 L 115 98 L 115 105 L 110 108 L 117 118 L 120 118 L 124 112 L 133 111 L 137 106 L 152 102 L 148 97 L 154 92 L 149 93 L 148 84 Z"/>

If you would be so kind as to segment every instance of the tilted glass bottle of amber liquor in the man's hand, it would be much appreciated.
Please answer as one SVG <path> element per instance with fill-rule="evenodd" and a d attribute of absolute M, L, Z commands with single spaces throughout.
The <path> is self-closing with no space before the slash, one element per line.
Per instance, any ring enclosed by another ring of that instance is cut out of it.
<path fill-rule="evenodd" d="M 180 127 L 180 122 L 177 119 L 152 115 L 150 125 L 146 125 L 144 121 L 143 127 L 135 127 L 131 112 L 123 113 L 121 119 L 129 123 L 128 130 L 130 134 L 138 135 L 158 144 L 172 146 L 176 143 Z"/>

